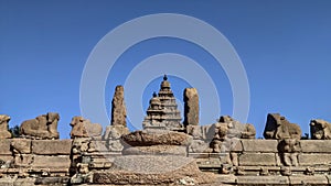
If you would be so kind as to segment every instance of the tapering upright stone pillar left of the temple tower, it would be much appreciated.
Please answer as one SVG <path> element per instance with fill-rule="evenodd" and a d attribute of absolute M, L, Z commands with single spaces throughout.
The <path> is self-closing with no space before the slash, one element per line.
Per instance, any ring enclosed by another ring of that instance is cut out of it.
<path fill-rule="evenodd" d="M 111 125 L 127 125 L 127 109 L 124 100 L 124 87 L 117 86 L 111 101 Z"/>

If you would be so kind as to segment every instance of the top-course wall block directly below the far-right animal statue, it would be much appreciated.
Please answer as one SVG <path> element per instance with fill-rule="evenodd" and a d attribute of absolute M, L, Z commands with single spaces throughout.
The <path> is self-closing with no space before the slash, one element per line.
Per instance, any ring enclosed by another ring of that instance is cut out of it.
<path fill-rule="evenodd" d="M 301 140 L 303 153 L 331 153 L 331 140 Z"/>

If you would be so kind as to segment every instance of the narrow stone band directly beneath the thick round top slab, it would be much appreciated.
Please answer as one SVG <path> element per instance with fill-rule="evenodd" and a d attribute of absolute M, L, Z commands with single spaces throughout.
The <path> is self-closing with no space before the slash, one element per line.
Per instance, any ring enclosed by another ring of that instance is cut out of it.
<path fill-rule="evenodd" d="M 186 146 L 179 145 L 152 145 L 132 146 L 121 152 L 124 155 L 182 155 L 186 156 Z"/>

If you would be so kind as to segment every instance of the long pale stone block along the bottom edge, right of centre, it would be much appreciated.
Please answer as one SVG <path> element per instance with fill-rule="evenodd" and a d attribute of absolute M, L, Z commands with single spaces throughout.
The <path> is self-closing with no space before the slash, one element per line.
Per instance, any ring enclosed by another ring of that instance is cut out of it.
<path fill-rule="evenodd" d="M 237 185 L 289 185 L 287 176 L 237 176 Z"/>

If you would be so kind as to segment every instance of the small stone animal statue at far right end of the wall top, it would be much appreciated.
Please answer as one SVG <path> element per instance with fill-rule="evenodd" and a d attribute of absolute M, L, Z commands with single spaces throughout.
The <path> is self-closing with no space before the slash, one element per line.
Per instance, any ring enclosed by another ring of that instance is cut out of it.
<path fill-rule="evenodd" d="M 311 140 L 331 140 L 331 123 L 316 119 L 310 121 Z"/>

